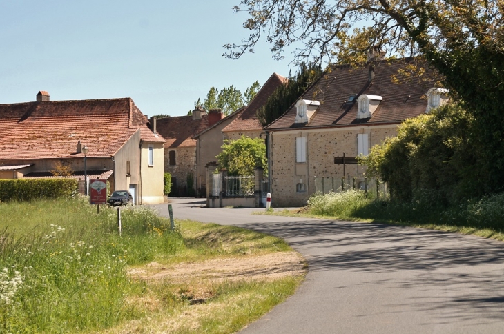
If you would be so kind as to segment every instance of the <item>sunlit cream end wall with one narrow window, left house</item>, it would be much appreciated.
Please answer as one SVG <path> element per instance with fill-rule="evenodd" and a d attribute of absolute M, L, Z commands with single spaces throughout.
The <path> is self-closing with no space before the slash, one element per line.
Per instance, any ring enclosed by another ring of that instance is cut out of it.
<path fill-rule="evenodd" d="M 148 164 L 148 148 L 153 147 L 153 165 Z M 159 204 L 164 202 L 163 174 L 164 174 L 164 146 L 163 143 L 142 143 L 142 204 Z"/>

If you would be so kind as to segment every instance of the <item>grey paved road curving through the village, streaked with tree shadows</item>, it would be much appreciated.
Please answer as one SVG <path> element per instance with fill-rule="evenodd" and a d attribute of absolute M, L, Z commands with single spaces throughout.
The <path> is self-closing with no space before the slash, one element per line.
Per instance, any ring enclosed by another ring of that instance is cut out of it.
<path fill-rule="evenodd" d="M 504 333 L 503 242 L 172 204 L 176 218 L 270 233 L 307 258 L 298 292 L 240 333 Z"/>

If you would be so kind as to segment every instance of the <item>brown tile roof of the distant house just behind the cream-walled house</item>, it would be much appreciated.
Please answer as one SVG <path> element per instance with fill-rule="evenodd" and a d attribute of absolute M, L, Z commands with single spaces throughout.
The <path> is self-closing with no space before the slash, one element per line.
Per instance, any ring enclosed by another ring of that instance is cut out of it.
<path fill-rule="evenodd" d="M 166 139 L 164 147 L 190 147 L 196 146 L 193 136 L 208 125 L 209 116 L 206 114 L 201 119 L 193 119 L 192 116 L 164 117 L 157 119 L 156 130 Z"/>

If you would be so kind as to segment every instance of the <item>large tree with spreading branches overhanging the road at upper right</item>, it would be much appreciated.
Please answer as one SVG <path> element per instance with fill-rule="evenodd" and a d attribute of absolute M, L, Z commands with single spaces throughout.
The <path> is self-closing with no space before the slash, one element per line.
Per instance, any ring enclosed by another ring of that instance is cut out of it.
<path fill-rule="evenodd" d="M 504 34 L 501 1 L 242 0 L 251 30 L 227 57 L 253 52 L 264 36 L 276 59 L 362 62 L 368 53 L 420 56 L 474 117 L 478 170 L 486 192 L 504 188 Z M 235 11 L 242 10 L 239 6 Z M 356 28 L 359 27 L 359 28 Z"/>

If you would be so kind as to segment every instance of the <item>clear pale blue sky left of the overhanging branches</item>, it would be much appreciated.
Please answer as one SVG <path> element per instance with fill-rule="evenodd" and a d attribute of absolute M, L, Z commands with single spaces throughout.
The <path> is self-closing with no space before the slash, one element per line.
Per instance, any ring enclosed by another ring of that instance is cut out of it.
<path fill-rule="evenodd" d="M 264 41 L 222 57 L 249 35 L 246 12 L 233 14 L 239 1 L 1 1 L 0 104 L 47 90 L 52 101 L 131 97 L 148 116 L 178 116 L 211 86 L 244 92 L 287 77 L 289 60 L 271 59 Z"/>

